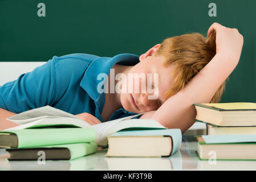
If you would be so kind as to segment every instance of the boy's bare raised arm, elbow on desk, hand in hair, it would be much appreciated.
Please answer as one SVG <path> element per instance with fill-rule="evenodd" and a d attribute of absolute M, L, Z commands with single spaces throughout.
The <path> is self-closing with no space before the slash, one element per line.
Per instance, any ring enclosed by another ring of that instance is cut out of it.
<path fill-rule="evenodd" d="M 179 128 L 182 132 L 194 123 L 196 109 L 194 103 L 209 103 L 212 97 L 237 66 L 242 51 L 243 37 L 236 29 L 212 24 L 208 35 L 216 30 L 216 55 L 184 90 L 168 98 L 159 109 L 146 113 L 140 118 L 156 119 L 169 128 Z"/>

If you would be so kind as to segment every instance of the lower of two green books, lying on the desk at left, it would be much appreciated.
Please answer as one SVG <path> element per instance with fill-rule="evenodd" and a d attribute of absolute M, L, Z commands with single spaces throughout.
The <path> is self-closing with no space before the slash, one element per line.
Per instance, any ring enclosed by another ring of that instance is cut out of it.
<path fill-rule="evenodd" d="M 8 148 L 7 160 L 72 160 L 97 151 L 95 142 L 71 143 L 54 146 Z"/>

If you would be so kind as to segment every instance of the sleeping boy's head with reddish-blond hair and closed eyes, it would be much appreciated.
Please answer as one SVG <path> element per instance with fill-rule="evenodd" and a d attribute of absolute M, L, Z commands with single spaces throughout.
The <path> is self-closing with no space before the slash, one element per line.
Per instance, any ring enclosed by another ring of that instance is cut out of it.
<path fill-rule="evenodd" d="M 148 92 L 123 93 L 120 99 L 124 109 L 134 113 L 157 110 L 169 97 L 182 90 L 193 76 L 212 60 L 216 55 L 215 40 L 216 32 L 206 38 L 198 33 L 174 36 L 166 38 L 161 44 L 157 44 L 141 55 L 140 63 L 132 67 L 129 73 L 145 73 L 146 75 L 147 73 L 152 73 L 152 75 L 158 73 L 158 98 L 149 100 L 148 96 L 152 93 Z M 141 91 L 141 85 L 146 81 L 147 78 L 141 79 L 137 85 L 133 82 L 133 88 L 139 86 Z M 154 86 L 153 78 L 152 82 L 152 86 Z M 127 86 L 131 85 L 127 83 Z M 224 89 L 225 82 L 210 102 L 220 101 Z M 139 110 L 131 105 L 132 99 L 136 102 Z"/>

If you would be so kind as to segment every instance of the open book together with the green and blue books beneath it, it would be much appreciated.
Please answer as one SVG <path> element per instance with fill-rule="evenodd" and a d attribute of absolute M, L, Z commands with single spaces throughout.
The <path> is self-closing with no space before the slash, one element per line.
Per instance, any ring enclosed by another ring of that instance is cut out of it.
<path fill-rule="evenodd" d="M 8 160 L 72 160 L 98 147 L 108 147 L 107 156 L 170 156 L 179 150 L 180 129 L 137 115 L 91 126 L 54 107 L 39 107 L 7 118 L 19 126 L 0 131 L 0 147 L 7 148 Z"/>

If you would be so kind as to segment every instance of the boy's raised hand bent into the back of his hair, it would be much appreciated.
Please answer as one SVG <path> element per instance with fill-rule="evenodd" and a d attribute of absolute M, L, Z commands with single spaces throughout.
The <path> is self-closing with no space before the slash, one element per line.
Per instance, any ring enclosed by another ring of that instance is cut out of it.
<path fill-rule="evenodd" d="M 222 54 L 238 63 L 242 47 L 243 36 L 236 28 L 227 28 L 219 23 L 213 23 L 208 30 L 208 36 L 216 31 L 216 54 Z"/>

